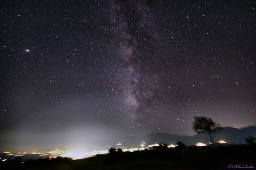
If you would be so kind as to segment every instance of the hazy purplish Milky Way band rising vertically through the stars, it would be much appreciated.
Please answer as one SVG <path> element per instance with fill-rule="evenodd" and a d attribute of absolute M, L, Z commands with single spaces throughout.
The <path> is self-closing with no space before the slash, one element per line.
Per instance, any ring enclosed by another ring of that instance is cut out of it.
<path fill-rule="evenodd" d="M 117 38 L 117 42 L 119 42 L 117 57 L 120 57 L 119 63 L 122 67 L 118 77 L 122 81 L 121 87 L 124 90 L 128 112 L 132 118 L 136 119 L 140 115 L 145 117 L 145 110 L 149 112 L 152 109 L 157 109 L 157 97 L 160 94 L 156 93 L 157 88 L 154 85 L 157 80 L 154 78 L 150 80 L 151 77 L 146 75 L 146 73 L 150 72 L 150 70 L 147 70 L 147 66 L 143 64 L 144 58 L 150 57 L 145 51 L 146 47 L 141 48 L 138 45 L 140 42 L 138 42 L 137 34 L 145 33 L 143 23 L 147 23 L 147 20 L 141 18 L 147 14 L 141 14 L 140 8 L 138 8 L 139 4 L 121 3 L 121 6 L 111 6 L 113 8 L 111 22 L 114 23 L 115 31 L 119 37 Z M 126 6 L 129 6 L 129 8 L 124 8 Z M 129 10 L 132 10 L 136 17 L 128 19 L 122 14 L 122 11 L 128 13 Z M 144 8 L 141 10 L 146 11 Z M 137 30 L 138 33 L 134 34 L 131 30 Z"/>

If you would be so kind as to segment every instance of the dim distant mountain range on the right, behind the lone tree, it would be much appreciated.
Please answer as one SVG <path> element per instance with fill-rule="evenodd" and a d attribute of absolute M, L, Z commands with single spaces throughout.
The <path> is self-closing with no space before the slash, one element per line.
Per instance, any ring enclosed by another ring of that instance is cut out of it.
<path fill-rule="evenodd" d="M 215 142 L 224 140 L 229 144 L 244 144 L 245 138 L 248 136 L 256 136 L 256 126 L 248 126 L 241 129 L 236 129 L 234 127 L 224 127 L 221 132 L 215 133 L 213 139 Z M 122 143 L 122 146 L 124 147 L 140 147 L 142 142 L 145 142 L 146 144 L 176 144 L 178 141 L 188 146 L 194 145 L 197 142 L 207 144 L 209 142 L 209 135 L 196 134 L 195 136 L 178 136 L 169 133 L 151 133 L 146 136 L 125 136 L 120 138 L 120 143 Z"/>

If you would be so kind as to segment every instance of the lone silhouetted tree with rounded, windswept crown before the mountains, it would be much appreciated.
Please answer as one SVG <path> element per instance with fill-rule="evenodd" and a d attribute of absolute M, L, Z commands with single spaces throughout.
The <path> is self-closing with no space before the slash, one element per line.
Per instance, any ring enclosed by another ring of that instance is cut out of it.
<path fill-rule="evenodd" d="M 221 125 L 212 121 L 211 118 L 204 116 L 195 116 L 195 121 L 193 122 L 193 129 L 196 133 L 207 133 L 210 136 L 210 142 L 213 144 L 212 134 L 221 130 Z"/>

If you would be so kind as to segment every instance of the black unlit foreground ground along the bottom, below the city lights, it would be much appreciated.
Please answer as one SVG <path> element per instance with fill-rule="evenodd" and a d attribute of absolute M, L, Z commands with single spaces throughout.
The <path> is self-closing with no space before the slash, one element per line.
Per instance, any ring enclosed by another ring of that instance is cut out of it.
<path fill-rule="evenodd" d="M 176 169 L 254 169 L 255 145 L 222 145 L 219 147 L 175 147 L 160 145 L 152 150 L 122 152 L 72 160 L 68 158 L 29 160 L 20 158 L 0 162 L 1 170 L 176 170 Z M 237 167 L 230 167 L 230 164 Z M 241 168 L 251 166 L 253 168 Z M 240 168 L 239 168 L 240 165 Z"/>

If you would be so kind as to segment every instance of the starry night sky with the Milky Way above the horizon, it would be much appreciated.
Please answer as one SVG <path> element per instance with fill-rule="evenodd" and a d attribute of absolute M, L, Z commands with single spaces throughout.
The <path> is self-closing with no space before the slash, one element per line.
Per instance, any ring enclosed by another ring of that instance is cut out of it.
<path fill-rule="evenodd" d="M 8 0 L 0 15 L 2 150 L 70 129 L 193 135 L 194 116 L 255 125 L 253 0 Z"/>

